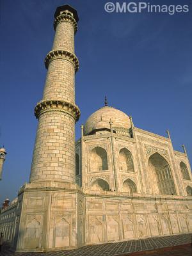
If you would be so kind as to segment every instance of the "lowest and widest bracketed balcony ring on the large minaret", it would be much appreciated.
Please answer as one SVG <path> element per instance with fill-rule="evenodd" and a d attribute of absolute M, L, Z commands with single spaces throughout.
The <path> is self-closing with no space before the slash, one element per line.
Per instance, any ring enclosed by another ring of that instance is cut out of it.
<path fill-rule="evenodd" d="M 76 104 L 72 104 L 63 100 L 42 100 L 36 105 L 34 113 L 38 119 L 40 115 L 49 111 L 60 111 L 67 113 L 68 115 L 72 116 L 76 122 L 79 120 L 81 115 L 80 110 Z"/>

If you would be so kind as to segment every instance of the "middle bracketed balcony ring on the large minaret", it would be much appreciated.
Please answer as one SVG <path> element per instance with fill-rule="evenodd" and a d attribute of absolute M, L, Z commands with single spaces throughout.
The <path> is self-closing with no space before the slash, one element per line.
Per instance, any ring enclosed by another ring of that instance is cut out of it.
<path fill-rule="evenodd" d="M 71 52 L 63 51 L 63 50 L 49 52 L 45 58 L 45 68 L 48 68 L 49 63 L 52 60 L 56 60 L 56 59 L 63 59 L 63 60 L 70 61 L 70 63 L 74 65 L 76 72 L 79 69 L 79 60 L 77 59 L 76 55 Z"/>

